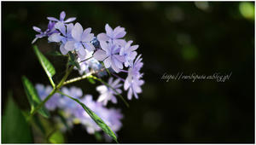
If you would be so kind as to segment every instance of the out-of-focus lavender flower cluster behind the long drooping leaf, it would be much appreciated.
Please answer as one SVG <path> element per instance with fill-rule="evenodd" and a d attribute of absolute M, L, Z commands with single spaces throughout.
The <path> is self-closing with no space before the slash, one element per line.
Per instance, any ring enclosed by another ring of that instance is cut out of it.
<path fill-rule="evenodd" d="M 36 84 L 36 89 L 38 91 L 38 96 L 44 99 L 45 96 L 49 95 L 52 90 L 51 86 L 47 85 L 44 87 L 43 84 Z M 87 107 L 89 107 L 94 113 L 96 113 L 114 132 L 119 131 L 122 126 L 120 119 L 123 118 L 122 113 L 119 109 L 107 108 L 103 106 L 102 102 L 95 102 L 91 95 L 83 95 L 81 89 L 77 87 L 63 87 L 61 91 L 68 96 L 73 96 L 83 102 Z M 73 102 L 67 96 L 61 96 L 60 94 L 55 94 L 55 96 L 49 99 L 49 102 L 45 103 L 45 107 L 50 111 L 55 111 L 59 109 L 64 112 L 64 117 L 69 123 L 75 124 L 79 121 L 81 125 L 84 126 L 89 134 L 94 134 L 96 131 L 101 131 L 101 128 L 96 125 L 93 119 L 84 112 L 84 108 L 81 107 L 77 102 Z M 70 127 L 73 125 L 71 124 Z M 62 126 L 62 131 L 66 131 L 65 126 Z"/>

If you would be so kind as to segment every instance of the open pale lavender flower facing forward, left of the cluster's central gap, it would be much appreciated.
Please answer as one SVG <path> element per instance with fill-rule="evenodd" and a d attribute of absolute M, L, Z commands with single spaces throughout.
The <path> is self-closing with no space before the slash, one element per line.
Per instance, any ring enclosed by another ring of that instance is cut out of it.
<path fill-rule="evenodd" d="M 76 23 L 75 26 L 73 26 L 71 35 L 73 37 L 73 40 L 67 41 L 65 44 L 65 49 L 67 51 L 76 50 L 79 57 L 81 59 L 84 59 L 86 56 L 86 51 L 93 51 L 95 48 L 93 44 L 90 44 L 90 41 L 93 39 L 94 34 L 90 33 L 91 28 L 87 28 L 83 32 L 83 27 Z M 85 49 L 84 49 L 85 47 Z"/>

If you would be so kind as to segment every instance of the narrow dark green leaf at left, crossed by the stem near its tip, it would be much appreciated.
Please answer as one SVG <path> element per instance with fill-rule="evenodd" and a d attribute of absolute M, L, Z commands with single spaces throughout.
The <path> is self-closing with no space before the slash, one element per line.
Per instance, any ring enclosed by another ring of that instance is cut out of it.
<path fill-rule="evenodd" d="M 25 77 L 22 76 L 22 83 L 24 85 L 24 90 L 26 92 L 26 96 L 28 99 L 28 102 L 31 105 L 31 113 L 35 109 L 35 107 L 38 106 L 38 104 L 41 102 L 41 99 L 38 96 L 37 90 L 34 88 L 33 84 Z M 49 112 L 45 107 L 41 107 L 38 110 L 38 113 L 43 115 L 46 118 L 49 118 Z"/>

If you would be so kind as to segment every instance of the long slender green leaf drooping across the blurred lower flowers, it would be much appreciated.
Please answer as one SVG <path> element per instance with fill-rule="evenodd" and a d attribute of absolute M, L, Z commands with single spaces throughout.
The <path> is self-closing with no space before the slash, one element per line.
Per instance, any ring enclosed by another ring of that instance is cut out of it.
<path fill-rule="evenodd" d="M 67 96 L 66 94 L 62 93 L 61 91 L 58 91 L 58 92 L 59 92 L 61 95 L 63 95 L 63 96 Z M 90 118 L 93 119 L 93 120 L 96 122 L 96 124 L 99 125 L 99 126 L 102 128 L 102 131 L 106 132 L 106 133 L 108 134 L 108 136 L 111 136 L 115 142 L 118 142 L 118 141 L 117 141 L 117 137 L 115 136 L 115 134 L 113 133 L 113 131 L 110 129 L 110 127 L 108 127 L 108 125 L 106 125 L 106 124 L 104 123 L 104 121 L 103 121 L 100 117 L 98 117 L 98 116 L 96 115 L 96 113 L 94 113 L 93 111 L 91 111 L 89 107 L 86 107 L 86 106 L 84 105 L 84 103 L 80 102 L 78 99 L 75 99 L 75 98 L 73 98 L 72 96 L 67 96 L 67 97 L 69 97 L 70 99 L 72 99 L 72 100 L 75 101 L 75 102 L 78 102 L 78 103 L 84 108 L 85 112 L 90 115 Z"/>

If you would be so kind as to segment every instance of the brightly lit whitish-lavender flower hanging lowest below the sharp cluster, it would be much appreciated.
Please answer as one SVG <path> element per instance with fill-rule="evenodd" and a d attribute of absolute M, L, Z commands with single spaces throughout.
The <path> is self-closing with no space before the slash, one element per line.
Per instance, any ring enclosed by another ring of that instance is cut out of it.
<path fill-rule="evenodd" d="M 119 87 L 122 86 L 122 84 L 119 84 L 119 82 L 120 82 L 120 79 L 116 79 L 115 81 L 113 81 L 113 78 L 108 79 L 108 84 L 120 94 L 122 93 L 122 90 L 120 90 Z M 106 85 L 100 85 L 96 87 L 96 90 L 99 91 L 101 94 L 97 102 L 102 102 L 103 105 L 105 106 L 107 105 L 108 101 L 117 103 L 117 99 L 114 96 L 114 95 L 117 95 L 117 93 L 113 91 L 112 88 L 109 88 Z"/>

